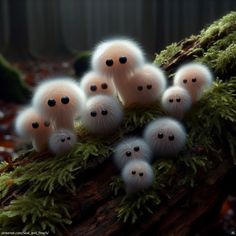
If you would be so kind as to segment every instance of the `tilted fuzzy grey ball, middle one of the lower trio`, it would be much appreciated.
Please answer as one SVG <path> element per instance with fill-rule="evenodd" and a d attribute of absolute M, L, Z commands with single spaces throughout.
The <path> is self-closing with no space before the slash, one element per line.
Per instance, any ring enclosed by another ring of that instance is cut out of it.
<path fill-rule="evenodd" d="M 119 169 L 130 160 L 151 161 L 151 149 L 141 138 L 128 138 L 119 143 L 114 151 L 114 161 Z"/>

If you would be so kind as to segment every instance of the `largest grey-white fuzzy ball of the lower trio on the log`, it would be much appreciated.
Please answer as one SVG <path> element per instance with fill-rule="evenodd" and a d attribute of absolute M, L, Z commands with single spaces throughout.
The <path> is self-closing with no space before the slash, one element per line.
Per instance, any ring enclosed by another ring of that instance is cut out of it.
<path fill-rule="evenodd" d="M 154 120 L 144 131 L 144 139 L 156 156 L 176 155 L 184 147 L 186 136 L 179 121 L 165 117 Z"/>

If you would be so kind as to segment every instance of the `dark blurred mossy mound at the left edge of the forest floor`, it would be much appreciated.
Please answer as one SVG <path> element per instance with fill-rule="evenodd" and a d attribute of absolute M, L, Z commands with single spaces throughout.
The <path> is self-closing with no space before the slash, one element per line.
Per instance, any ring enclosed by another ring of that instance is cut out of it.
<path fill-rule="evenodd" d="M 25 103 L 31 95 L 26 83 L 21 79 L 19 72 L 0 55 L 0 99 Z"/>

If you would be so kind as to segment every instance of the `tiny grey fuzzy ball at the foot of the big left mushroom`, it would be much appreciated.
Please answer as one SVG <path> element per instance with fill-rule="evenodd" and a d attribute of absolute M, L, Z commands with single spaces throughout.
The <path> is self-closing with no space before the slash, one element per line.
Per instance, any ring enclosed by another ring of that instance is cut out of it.
<path fill-rule="evenodd" d="M 77 137 L 74 132 L 67 129 L 58 129 L 49 137 L 49 149 L 56 155 L 69 152 L 76 144 Z"/>

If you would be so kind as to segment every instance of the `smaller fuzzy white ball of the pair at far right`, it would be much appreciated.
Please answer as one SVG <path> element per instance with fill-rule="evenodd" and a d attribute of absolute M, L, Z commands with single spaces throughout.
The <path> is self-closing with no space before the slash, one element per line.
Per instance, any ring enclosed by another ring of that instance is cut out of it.
<path fill-rule="evenodd" d="M 185 112 L 190 109 L 192 99 L 185 88 L 171 86 L 164 92 L 161 104 L 171 116 L 182 119 Z"/>

